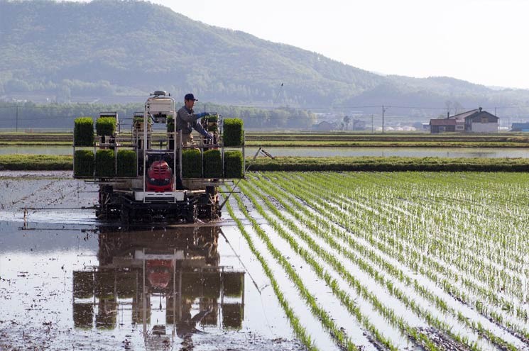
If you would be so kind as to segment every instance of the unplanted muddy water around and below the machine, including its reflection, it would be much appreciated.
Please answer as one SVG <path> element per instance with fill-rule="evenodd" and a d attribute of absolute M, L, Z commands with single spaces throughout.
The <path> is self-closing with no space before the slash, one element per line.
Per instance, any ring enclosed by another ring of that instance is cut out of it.
<path fill-rule="evenodd" d="M 121 231 L 93 186 L 21 175 L 0 174 L 0 350 L 304 350 L 229 221 Z"/>

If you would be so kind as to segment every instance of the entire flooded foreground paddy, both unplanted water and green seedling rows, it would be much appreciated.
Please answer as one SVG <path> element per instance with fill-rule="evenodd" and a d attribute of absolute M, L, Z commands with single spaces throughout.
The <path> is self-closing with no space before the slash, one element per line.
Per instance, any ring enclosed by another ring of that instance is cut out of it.
<path fill-rule="evenodd" d="M 527 174 L 250 173 L 129 230 L 68 177 L 0 174 L 0 349 L 529 350 Z"/>

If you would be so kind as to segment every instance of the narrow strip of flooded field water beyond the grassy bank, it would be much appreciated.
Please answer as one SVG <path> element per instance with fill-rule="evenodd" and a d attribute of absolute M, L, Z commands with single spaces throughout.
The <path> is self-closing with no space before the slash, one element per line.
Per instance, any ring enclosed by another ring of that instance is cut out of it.
<path fill-rule="evenodd" d="M 273 156 L 529 157 L 529 148 L 513 147 L 265 147 Z M 247 147 L 246 156 L 256 147 Z M 72 147 L 0 147 L 0 155 L 72 155 Z"/>

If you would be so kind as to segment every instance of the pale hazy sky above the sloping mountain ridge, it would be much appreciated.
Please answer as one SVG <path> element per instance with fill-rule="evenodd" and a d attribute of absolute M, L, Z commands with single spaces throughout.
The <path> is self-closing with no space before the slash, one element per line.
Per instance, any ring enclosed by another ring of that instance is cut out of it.
<path fill-rule="evenodd" d="M 529 88 L 526 0 L 153 0 L 384 74 Z"/>

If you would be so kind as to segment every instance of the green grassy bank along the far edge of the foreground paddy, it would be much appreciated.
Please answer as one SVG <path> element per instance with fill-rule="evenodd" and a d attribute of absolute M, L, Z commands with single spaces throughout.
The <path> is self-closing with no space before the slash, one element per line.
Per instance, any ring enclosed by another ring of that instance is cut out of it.
<path fill-rule="evenodd" d="M 246 160 L 246 165 L 251 157 Z M 71 170 L 70 155 L 0 155 L 0 169 Z M 481 171 L 529 172 L 529 158 L 276 157 L 258 158 L 251 171 Z"/>

